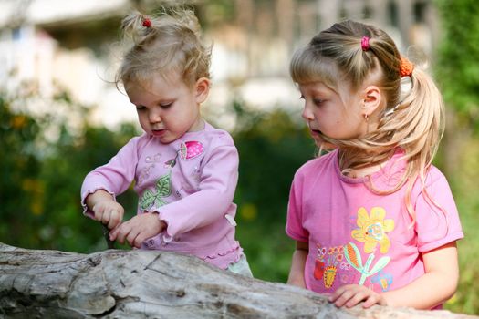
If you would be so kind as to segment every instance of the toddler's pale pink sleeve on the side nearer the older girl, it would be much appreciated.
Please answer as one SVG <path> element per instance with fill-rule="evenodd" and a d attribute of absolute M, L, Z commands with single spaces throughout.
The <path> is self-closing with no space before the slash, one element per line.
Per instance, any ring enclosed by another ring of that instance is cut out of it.
<path fill-rule="evenodd" d="M 238 180 L 238 162 L 233 141 L 213 148 L 204 157 L 200 190 L 156 209 L 159 218 L 168 224 L 168 236 L 174 237 L 217 221 L 232 207 L 235 211 L 233 198 Z"/>

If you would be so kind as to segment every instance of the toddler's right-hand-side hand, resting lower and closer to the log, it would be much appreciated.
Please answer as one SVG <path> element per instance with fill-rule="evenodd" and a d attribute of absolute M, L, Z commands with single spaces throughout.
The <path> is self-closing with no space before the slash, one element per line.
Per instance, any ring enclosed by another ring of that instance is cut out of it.
<path fill-rule="evenodd" d="M 158 235 L 165 228 L 166 223 L 158 219 L 157 213 L 145 212 L 136 215 L 130 221 L 121 223 L 109 232 L 109 239 L 120 243 L 124 243 L 126 240 L 131 247 L 140 248 L 144 240 Z"/>

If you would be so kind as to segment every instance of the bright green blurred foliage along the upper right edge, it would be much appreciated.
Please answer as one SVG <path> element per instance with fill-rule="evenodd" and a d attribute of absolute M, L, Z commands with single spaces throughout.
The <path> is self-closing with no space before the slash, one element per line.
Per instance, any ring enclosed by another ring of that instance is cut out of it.
<path fill-rule="evenodd" d="M 443 25 L 436 78 L 447 106 L 443 169 L 453 175 L 463 160 L 462 150 L 479 133 L 479 5 L 474 0 L 436 4 Z"/>

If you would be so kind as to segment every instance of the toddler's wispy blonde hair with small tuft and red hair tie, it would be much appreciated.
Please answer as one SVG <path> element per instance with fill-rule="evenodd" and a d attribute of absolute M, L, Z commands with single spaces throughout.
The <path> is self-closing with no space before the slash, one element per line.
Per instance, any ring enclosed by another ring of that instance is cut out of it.
<path fill-rule="evenodd" d="M 210 77 L 211 47 L 202 43 L 193 10 L 162 9 L 151 16 L 134 12 L 123 19 L 121 32 L 130 48 L 115 78 L 117 87 L 130 81 L 142 84 L 155 76 L 166 78 L 171 71 L 179 72 L 188 86 Z"/>

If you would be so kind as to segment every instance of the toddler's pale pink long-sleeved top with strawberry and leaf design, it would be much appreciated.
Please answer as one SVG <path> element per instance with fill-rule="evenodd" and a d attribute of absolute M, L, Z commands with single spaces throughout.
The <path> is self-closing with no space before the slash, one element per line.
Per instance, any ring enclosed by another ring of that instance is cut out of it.
<path fill-rule="evenodd" d="M 89 172 L 81 202 L 91 216 L 85 205 L 90 193 L 107 190 L 115 196 L 135 180 L 137 213 L 158 211 L 168 224 L 165 232 L 143 242 L 142 249 L 193 254 L 225 269 L 243 252 L 234 239 L 238 161 L 231 136 L 207 123 L 170 144 L 143 134 L 108 164 Z"/>

